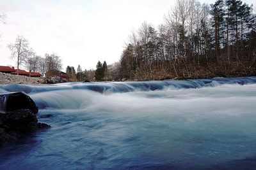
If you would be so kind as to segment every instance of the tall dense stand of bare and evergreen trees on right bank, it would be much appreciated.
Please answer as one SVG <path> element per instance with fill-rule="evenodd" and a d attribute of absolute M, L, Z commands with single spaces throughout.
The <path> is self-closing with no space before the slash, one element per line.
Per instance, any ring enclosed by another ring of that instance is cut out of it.
<path fill-rule="evenodd" d="M 240 0 L 177 0 L 156 29 L 132 32 L 117 78 L 161 80 L 256 75 L 256 15 Z"/>

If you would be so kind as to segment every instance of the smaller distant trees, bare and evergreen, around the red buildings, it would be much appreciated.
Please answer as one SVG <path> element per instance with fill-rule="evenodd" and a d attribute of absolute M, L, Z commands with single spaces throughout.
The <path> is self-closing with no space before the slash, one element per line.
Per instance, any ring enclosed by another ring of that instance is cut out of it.
<path fill-rule="evenodd" d="M 62 64 L 60 56 L 52 53 L 45 53 L 44 57 L 36 55 L 29 47 L 28 40 L 22 36 L 17 36 L 15 43 L 8 45 L 12 52 L 11 59 L 17 61 L 17 74 L 19 74 L 20 64 L 31 72 L 38 72 L 47 76 L 55 76 L 60 71 Z M 73 66 L 67 66 L 66 73 L 68 81 L 103 81 L 109 80 L 108 66 L 106 61 L 103 64 L 99 61 L 97 69 L 82 70 L 81 66 L 77 70 Z"/>

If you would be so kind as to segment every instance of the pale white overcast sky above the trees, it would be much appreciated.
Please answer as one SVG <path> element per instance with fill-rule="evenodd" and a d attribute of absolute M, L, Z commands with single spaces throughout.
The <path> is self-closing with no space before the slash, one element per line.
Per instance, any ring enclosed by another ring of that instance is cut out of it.
<path fill-rule="evenodd" d="M 214 1 L 200 0 L 200 3 Z M 248 4 L 255 0 L 244 1 Z M 0 0 L 0 66 L 16 66 L 10 50 L 17 35 L 28 39 L 37 55 L 60 55 L 67 66 L 94 69 L 97 61 L 117 62 L 125 41 L 143 21 L 163 23 L 171 0 Z"/>

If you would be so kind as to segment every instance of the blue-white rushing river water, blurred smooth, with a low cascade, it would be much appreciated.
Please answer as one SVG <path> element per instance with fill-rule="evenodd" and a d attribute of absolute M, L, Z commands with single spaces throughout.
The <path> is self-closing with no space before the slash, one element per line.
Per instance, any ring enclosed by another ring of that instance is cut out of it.
<path fill-rule="evenodd" d="M 256 77 L 63 83 L 25 91 L 51 129 L 0 169 L 255 169 Z"/>

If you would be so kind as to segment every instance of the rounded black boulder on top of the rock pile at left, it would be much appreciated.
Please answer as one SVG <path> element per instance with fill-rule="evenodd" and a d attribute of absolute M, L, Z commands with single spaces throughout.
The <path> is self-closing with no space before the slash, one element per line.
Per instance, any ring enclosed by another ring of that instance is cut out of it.
<path fill-rule="evenodd" d="M 35 102 L 24 92 L 11 92 L 0 94 L 0 113 L 15 110 L 31 110 L 38 112 Z"/>

